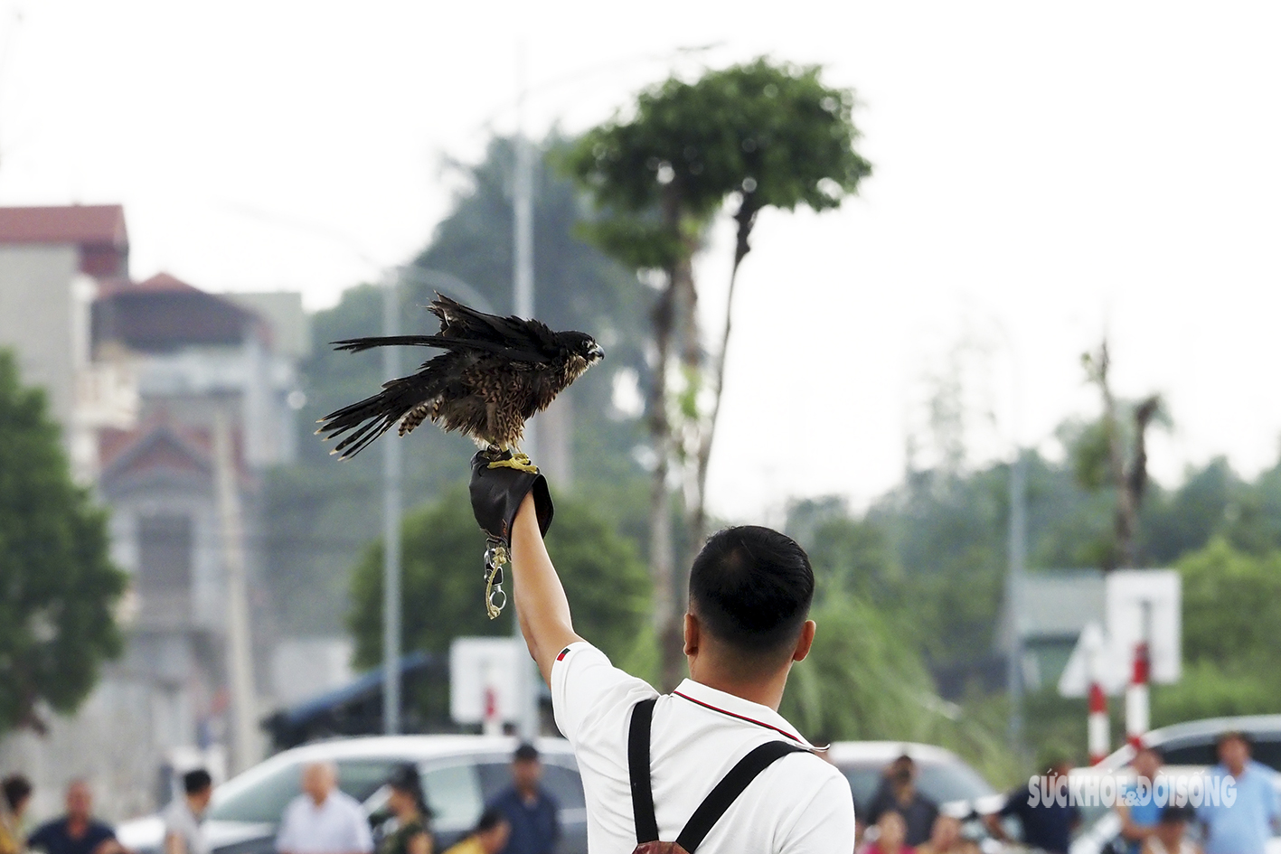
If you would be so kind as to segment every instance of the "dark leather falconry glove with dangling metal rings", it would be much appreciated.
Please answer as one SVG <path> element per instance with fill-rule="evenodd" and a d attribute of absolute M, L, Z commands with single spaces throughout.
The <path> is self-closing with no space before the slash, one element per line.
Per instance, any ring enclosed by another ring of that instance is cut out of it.
<path fill-rule="evenodd" d="M 485 611 L 493 620 L 507 603 L 502 592 L 502 567 L 511 562 L 511 528 L 516 512 L 525 495 L 534 495 L 534 513 L 538 516 L 538 530 L 546 536 L 552 526 L 552 497 L 547 489 L 547 479 L 537 469 L 525 471 L 501 465 L 511 460 L 511 451 L 503 451 L 497 457 L 492 451 L 478 451 L 471 457 L 471 512 L 477 524 L 484 531 L 484 580 Z M 494 465 L 500 463 L 500 465 Z"/>

